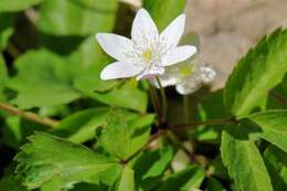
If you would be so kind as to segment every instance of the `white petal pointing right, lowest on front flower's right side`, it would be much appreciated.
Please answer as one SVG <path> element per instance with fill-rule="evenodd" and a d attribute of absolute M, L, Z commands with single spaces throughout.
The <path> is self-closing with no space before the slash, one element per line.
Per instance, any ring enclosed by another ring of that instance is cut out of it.
<path fill-rule="evenodd" d="M 171 50 L 162 57 L 162 66 L 170 66 L 183 62 L 198 52 L 198 49 L 192 45 L 178 46 Z"/>

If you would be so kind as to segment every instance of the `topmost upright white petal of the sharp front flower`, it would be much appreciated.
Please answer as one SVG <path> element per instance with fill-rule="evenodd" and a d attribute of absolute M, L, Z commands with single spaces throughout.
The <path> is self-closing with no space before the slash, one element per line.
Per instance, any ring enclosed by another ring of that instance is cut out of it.
<path fill-rule="evenodd" d="M 132 22 L 131 39 L 138 44 L 157 41 L 159 32 L 148 11 L 140 9 Z"/>

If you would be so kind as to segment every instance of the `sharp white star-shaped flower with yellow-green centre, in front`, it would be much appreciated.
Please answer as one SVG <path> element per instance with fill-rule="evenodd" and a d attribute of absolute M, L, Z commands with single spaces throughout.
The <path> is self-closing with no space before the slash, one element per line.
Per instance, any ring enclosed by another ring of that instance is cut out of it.
<path fill-rule="evenodd" d="M 159 34 L 149 13 L 140 9 L 132 23 L 131 40 L 111 33 L 96 34 L 104 51 L 117 60 L 102 71 L 100 78 L 149 78 L 163 74 L 166 66 L 185 61 L 196 52 L 196 47 L 177 46 L 184 24 L 185 15 L 181 14 Z"/>

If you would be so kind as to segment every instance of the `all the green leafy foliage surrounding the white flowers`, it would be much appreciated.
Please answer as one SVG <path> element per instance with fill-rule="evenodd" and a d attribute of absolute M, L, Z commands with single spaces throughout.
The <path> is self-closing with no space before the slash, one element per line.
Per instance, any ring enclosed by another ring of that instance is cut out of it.
<path fill-rule="evenodd" d="M 162 31 L 187 0 L 142 3 Z M 0 191 L 287 190 L 287 30 L 251 49 L 223 89 L 189 95 L 189 115 L 166 88 L 163 123 L 148 79 L 99 77 L 114 61 L 95 34 L 129 36 L 135 12 L 0 0 Z M 200 45 L 187 32 L 182 43 Z"/>

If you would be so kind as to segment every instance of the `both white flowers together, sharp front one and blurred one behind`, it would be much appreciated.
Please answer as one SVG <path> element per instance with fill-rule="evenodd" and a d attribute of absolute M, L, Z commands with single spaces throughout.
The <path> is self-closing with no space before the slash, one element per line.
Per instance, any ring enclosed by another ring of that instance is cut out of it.
<path fill-rule="evenodd" d="M 103 50 L 117 60 L 102 71 L 100 78 L 149 78 L 155 84 L 155 76 L 159 76 L 162 86 L 176 85 L 180 94 L 190 94 L 203 83 L 211 82 L 215 76 L 211 67 L 178 64 L 198 51 L 192 45 L 178 46 L 184 25 L 185 15 L 181 14 L 159 34 L 150 14 L 140 9 L 132 22 L 131 40 L 111 33 L 97 33 L 96 39 Z"/>

